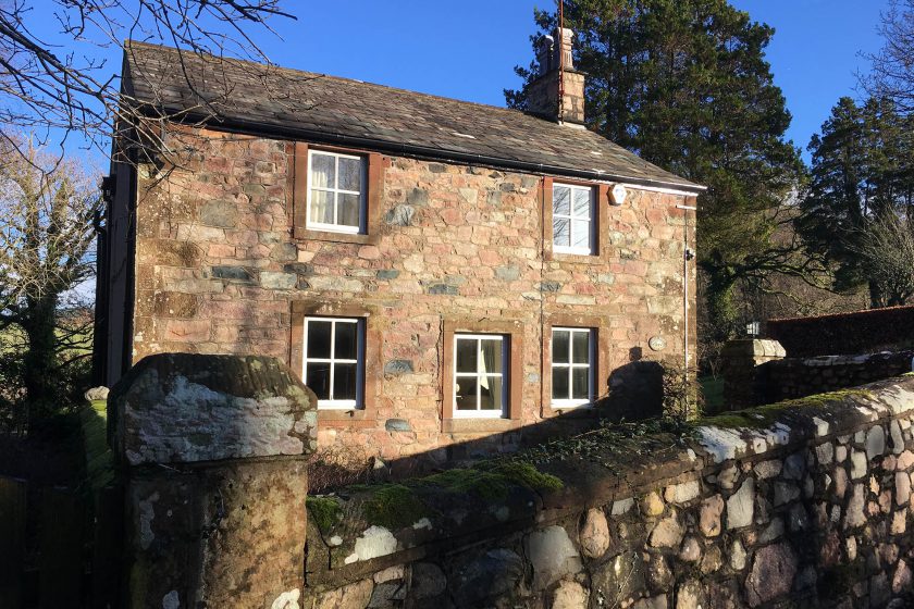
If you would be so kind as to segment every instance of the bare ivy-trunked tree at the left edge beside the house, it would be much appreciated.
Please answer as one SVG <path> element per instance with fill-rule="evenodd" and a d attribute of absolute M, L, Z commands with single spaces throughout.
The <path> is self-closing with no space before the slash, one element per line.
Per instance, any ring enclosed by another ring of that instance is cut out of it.
<path fill-rule="evenodd" d="M 0 334 L 11 343 L 2 356 L 21 357 L 30 422 L 59 409 L 61 369 L 87 357 L 89 320 L 61 323 L 60 306 L 94 271 L 99 202 L 75 162 L 27 139 L 0 145 Z"/>

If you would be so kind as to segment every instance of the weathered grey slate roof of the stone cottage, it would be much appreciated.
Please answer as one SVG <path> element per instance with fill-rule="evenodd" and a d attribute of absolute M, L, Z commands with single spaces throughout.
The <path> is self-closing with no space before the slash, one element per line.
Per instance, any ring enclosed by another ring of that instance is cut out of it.
<path fill-rule="evenodd" d="M 124 91 L 146 111 L 183 112 L 230 130 L 703 190 L 593 132 L 517 110 L 170 47 L 129 41 Z"/>

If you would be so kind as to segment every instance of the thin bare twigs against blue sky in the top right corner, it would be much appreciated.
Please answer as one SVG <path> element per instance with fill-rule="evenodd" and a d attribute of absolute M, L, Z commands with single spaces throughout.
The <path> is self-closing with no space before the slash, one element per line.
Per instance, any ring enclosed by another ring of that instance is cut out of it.
<path fill-rule="evenodd" d="M 872 72 L 861 76 L 866 91 L 890 98 L 900 112 L 914 112 L 914 0 L 890 0 L 879 33 L 885 42 L 875 54 L 865 54 Z"/>

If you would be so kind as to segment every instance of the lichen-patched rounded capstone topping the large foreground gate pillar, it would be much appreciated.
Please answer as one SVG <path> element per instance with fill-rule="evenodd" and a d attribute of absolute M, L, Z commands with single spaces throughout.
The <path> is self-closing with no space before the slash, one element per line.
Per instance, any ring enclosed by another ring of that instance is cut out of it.
<path fill-rule="evenodd" d="M 300 456 L 317 448 L 316 408 L 274 358 L 162 353 L 111 390 L 109 440 L 128 465 Z"/>

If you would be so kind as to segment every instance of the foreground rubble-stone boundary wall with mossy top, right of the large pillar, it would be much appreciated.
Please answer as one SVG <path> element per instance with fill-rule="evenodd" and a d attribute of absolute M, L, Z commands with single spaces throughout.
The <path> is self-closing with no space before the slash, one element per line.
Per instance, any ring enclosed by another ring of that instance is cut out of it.
<path fill-rule="evenodd" d="M 905 376 L 540 455 L 499 499 L 497 469 L 312 497 L 304 604 L 910 607 L 912 415 Z"/>

